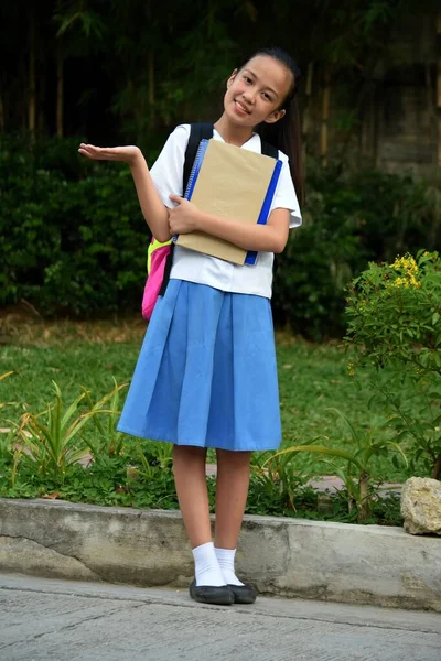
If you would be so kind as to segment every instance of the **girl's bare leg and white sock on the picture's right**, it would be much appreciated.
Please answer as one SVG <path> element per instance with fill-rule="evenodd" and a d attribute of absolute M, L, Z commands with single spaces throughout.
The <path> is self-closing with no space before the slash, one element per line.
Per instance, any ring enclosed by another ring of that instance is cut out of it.
<path fill-rule="evenodd" d="M 250 452 L 217 451 L 215 548 L 226 583 L 236 585 L 241 585 L 234 557 L 248 496 L 250 457 Z"/>

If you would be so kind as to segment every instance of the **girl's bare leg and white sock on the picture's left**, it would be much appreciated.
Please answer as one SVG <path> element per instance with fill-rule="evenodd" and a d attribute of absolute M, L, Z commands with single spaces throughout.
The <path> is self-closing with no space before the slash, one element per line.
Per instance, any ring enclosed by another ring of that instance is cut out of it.
<path fill-rule="evenodd" d="M 174 484 L 193 550 L 196 586 L 219 587 L 225 585 L 225 581 L 212 541 L 205 459 L 206 449 L 203 447 L 173 447 Z M 216 597 L 212 595 L 212 598 Z"/>

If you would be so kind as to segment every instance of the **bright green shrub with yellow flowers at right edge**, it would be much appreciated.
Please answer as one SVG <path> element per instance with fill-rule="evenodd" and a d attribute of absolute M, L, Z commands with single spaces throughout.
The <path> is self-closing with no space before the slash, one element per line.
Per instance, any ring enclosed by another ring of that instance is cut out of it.
<path fill-rule="evenodd" d="M 346 342 L 361 365 L 378 370 L 375 398 L 396 441 L 409 445 L 412 470 L 441 476 L 441 258 L 420 251 L 370 263 L 349 289 Z M 416 413 L 417 411 L 417 413 Z"/>

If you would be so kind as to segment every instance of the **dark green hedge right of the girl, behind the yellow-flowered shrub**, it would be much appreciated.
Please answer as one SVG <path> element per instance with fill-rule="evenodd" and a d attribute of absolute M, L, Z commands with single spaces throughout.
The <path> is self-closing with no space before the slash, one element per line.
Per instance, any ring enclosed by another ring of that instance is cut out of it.
<path fill-rule="evenodd" d="M 409 176 L 309 167 L 303 226 L 278 256 L 276 322 L 313 339 L 344 333 L 345 286 L 370 260 L 434 249 L 441 194 Z"/>

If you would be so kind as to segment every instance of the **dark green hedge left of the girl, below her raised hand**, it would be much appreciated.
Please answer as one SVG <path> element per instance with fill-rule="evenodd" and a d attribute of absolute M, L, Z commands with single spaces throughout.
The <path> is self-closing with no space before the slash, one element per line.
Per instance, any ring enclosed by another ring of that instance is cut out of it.
<path fill-rule="evenodd" d="M 149 230 L 128 169 L 79 163 L 73 140 L 46 152 L 15 142 L 0 150 L 0 304 L 24 299 L 45 316 L 139 308 Z"/>

